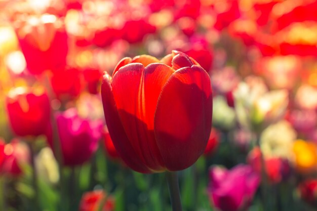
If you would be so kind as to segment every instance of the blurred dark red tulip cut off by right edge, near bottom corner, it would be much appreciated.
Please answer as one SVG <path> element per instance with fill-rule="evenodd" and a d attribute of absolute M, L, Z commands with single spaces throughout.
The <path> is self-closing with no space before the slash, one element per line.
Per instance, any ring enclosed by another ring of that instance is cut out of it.
<path fill-rule="evenodd" d="M 317 204 L 317 180 L 308 179 L 299 184 L 300 196 L 310 204 Z"/>

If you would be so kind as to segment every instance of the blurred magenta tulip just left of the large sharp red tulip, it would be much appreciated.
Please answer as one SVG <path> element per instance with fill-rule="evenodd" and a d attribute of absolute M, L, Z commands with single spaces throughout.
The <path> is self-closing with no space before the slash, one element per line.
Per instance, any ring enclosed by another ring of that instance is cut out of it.
<path fill-rule="evenodd" d="M 60 147 L 65 165 L 81 165 L 88 161 L 98 147 L 102 122 L 83 119 L 70 108 L 56 114 Z M 52 141 L 49 139 L 53 147 Z"/>

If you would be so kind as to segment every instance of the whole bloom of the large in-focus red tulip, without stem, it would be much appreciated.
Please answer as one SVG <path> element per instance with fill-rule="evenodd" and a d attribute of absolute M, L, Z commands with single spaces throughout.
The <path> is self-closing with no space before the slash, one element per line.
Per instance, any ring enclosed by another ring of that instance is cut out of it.
<path fill-rule="evenodd" d="M 124 58 L 101 87 L 113 144 L 134 171 L 183 170 L 203 154 L 211 131 L 208 73 L 173 51 L 161 61 Z"/>

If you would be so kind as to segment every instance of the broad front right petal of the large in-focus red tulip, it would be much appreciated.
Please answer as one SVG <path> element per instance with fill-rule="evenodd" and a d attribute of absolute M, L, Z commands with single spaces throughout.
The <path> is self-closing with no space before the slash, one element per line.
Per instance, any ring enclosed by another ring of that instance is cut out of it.
<path fill-rule="evenodd" d="M 154 133 L 166 167 L 179 171 L 204 152 L 211 131 L 210 77 L 200 66 L 174 72 L 157 102 Z"/>

